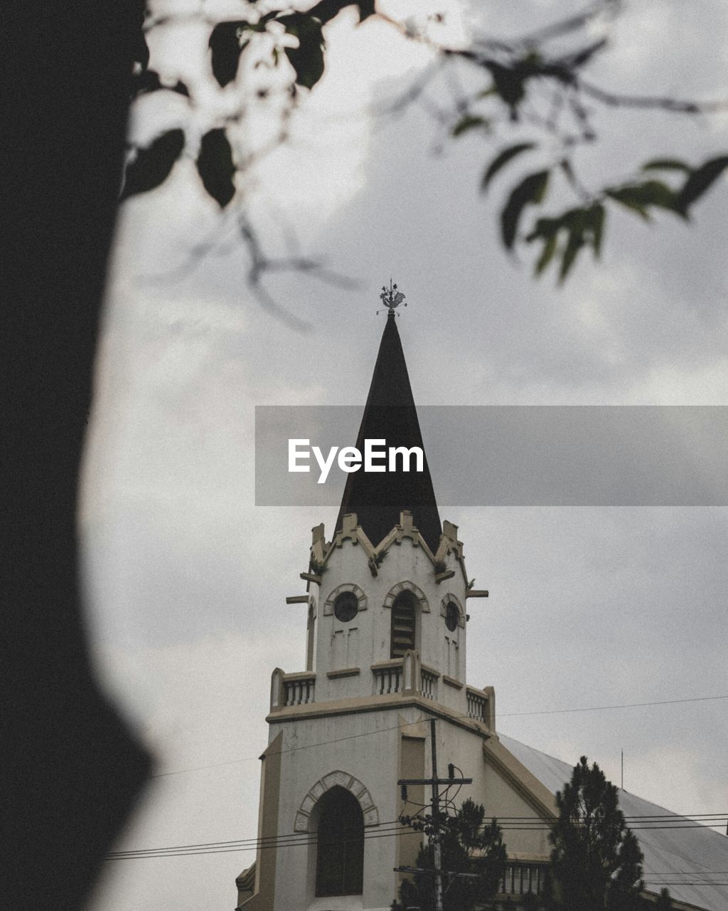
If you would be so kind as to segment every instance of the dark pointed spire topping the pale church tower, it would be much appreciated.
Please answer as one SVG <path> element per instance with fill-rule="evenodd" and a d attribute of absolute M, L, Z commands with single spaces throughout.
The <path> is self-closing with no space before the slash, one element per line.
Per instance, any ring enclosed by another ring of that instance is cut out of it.
<path fill-rule="evenodd" d="M 389 311 L 382 333 L 369 396 L 359 426 L 357 448 L 362 453 L 365 439 L 386 440 L 388 448 L 420 446 L 424 453 L 410 377 L 392 310 Z M 414 467 L 412 460 L 411 469 Z M 359 468 L 359 471 L 349 474 L 339 509 L 337 530 L 342 527 L 346 513 L 356 513 L 359 525 L 372 544 L 377 545 L 399 524 L 401 510 L 410 509 L 414 524 L 434 553 L 440 543 L 442 527 L 427 455 L 423 467 L 422 472 L 410 470 L 409 473 L 398 471 L 396 474 L 365 472 Z"/>

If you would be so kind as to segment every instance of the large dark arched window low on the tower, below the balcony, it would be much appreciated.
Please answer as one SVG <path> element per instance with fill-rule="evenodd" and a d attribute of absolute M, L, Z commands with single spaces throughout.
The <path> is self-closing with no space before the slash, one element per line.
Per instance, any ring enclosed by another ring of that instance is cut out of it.
<path fill-rule="evenodd" d="M 364 883 L 364 814 L 349 791 L 321 797 L 316 849 L 316 895 L 360 896 Z"/>

